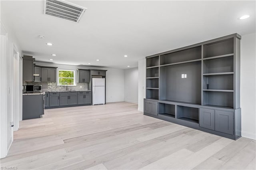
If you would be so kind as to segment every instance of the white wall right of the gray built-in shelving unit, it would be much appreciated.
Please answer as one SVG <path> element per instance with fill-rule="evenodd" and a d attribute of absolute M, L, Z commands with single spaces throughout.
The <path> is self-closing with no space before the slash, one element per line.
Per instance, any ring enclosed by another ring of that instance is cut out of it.
<path fill-rule="evenodd" d="M 256 34 L 241 39 L 242 136 L 256 139 Z"/>

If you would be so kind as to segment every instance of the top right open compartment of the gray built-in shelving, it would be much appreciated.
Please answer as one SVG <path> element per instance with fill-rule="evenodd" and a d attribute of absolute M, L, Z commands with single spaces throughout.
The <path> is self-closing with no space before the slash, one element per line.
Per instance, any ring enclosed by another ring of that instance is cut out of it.
<path fill-rule="evenodd" d="M 234 53 L 234 38 L 204 45 L 204 58 Z"/>

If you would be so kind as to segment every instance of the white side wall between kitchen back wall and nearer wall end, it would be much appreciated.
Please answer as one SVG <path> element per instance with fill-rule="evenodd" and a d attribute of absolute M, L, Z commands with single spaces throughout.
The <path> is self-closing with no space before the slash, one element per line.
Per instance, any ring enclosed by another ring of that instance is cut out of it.
<path fill-rule="evenodd" d="M 124 70 L 124 101 L 138 103 L 138 67 Z"/>

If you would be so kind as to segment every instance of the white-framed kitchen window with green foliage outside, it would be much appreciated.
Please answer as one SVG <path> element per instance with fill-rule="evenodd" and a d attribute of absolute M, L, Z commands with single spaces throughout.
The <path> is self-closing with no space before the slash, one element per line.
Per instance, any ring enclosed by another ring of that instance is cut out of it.
<path fill-rule="evenodd" d="M 58 85 L 76 85 L 74 70 L 58 70 Z"/>

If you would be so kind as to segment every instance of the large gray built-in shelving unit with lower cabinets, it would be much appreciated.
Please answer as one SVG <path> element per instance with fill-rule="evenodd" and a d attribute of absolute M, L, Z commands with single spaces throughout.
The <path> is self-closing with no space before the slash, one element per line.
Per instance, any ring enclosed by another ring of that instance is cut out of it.
<path fill-rule="evenodd" d="M 232 34 L 146 57 L 144 115 L 240 138 L 240 39 Z"/>

